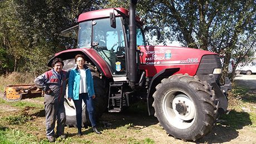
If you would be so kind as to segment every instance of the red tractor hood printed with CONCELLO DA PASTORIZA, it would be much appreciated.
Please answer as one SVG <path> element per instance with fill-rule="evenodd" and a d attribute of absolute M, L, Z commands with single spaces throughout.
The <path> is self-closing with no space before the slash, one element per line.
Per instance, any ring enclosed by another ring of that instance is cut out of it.
<path fill-rule="evenodd" d="M 190 76 L 194 76 L 203 56 L 218 57 L 217 53 L 195 48 L 171 46 L 140 46 L 139 48 L 139 69 L 145 70 L 149 77 L 168 68 L 179 68 L 179 73 L 189 73 Z M 188 68 L 190 71 L 185 70 Z"/>

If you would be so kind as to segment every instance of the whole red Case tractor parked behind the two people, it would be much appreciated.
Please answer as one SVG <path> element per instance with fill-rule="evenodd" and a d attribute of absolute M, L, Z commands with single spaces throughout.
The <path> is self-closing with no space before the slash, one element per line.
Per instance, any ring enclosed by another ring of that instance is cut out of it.
<path fill-rule="evenodd" d="M 95 85 L 97 118 L 103 112 L 120 112 L 145 100 L 167 133 L 183 140 L 197 140 L 211 131 L 227 111 L 226 78 L 220 86 L 218 54 L 200 49 L 146 46 L 143 23 L 135 16 L 137 1 L 129 11 L 110 8 L 80 14 L 78 25 L 62 36 L 75 39 L 77 48 L 56 53 L 68 71 L 76 54 L 83 54 Z M 52 58 L 52 59 L 53 59 Z M 51 66 L 51 61 L 48 66 Z M 65 101 L 68 126 L 76 125 L 73 102 Z M 88 122 L 83 106 L 83 123 Z"/>

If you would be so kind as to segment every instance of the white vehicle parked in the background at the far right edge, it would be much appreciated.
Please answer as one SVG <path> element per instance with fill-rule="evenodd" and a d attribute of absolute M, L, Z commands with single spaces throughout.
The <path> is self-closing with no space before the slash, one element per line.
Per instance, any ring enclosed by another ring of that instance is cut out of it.
<path fill-rule="evenodd" d="M 235 73 L 243 73 L 246 75 L 251 75 L 252 73 L 256 73 L 256 60 L 252 61 L 248 64 L 238 64 Z"/>

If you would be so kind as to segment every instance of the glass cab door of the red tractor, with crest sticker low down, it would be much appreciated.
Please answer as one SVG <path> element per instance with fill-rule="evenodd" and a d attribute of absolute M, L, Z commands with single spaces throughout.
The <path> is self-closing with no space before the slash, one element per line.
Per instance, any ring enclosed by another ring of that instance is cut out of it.
<path fill-rule="evenodd" d="M 116 28 L 110 26 L 109 18 L 92 22 L 93 48 L 105 59 L 113 76 L 126 76 L 125 39 L 121 17 L 116 17 Z"/>

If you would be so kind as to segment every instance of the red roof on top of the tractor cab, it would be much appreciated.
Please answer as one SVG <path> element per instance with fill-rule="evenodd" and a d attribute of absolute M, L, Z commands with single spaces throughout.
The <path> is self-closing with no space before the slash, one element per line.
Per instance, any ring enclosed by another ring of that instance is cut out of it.
<path fill-rule="evenodd" d="M 87 21 L 87 20 L 91 20 L 91 19 L 97 19 L 97 18 L 110 17 L 110 12 L 115 12 L 116 16 L 120 16 L 120 14 L 117 13 L 117 11 L 115 11 L 114 9 L 124 13 L 125 16 L 129 17 L 129 11 L 125 8 L 108 8 L 108 9 L 100 9 L 100 10 L 96 10 L 96 11 L 82 13 L 78 17 L 78 22 Z M 136 16 L 136 21 L 140 22 L 140 17 Z"/>

